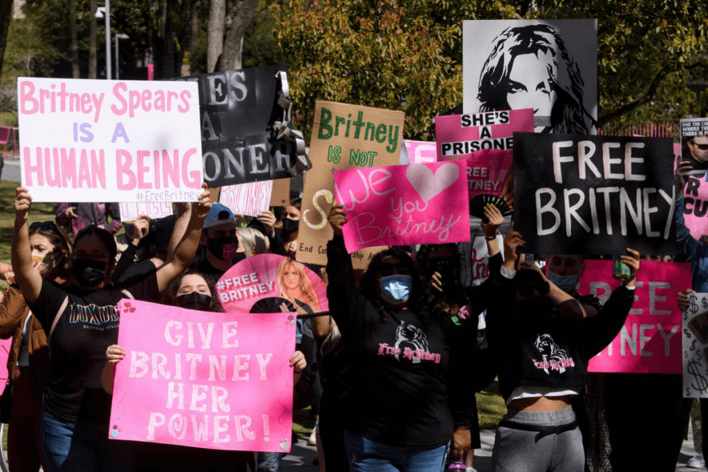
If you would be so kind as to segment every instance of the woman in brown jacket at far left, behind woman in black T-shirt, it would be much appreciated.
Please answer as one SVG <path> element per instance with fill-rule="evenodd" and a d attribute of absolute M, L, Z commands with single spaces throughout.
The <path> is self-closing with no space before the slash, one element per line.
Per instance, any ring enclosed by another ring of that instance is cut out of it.
<path fill-rule="evenodd" d="M 62 284 L 70 278 L 64 263 L 71 255 L 67 236 L 54 221 L 30 225 L 30 248 L 35 269 L 47 280 Z M 41 323 L 27 306 L 21 289 L 12 284 L 0 303 L 0 338 L 12 337 L 7 370 L 13 388 L 7 453 L 11 472 L 47 468 L 40 444 L 42 392 L 50 374 L 49 343 Z"/>

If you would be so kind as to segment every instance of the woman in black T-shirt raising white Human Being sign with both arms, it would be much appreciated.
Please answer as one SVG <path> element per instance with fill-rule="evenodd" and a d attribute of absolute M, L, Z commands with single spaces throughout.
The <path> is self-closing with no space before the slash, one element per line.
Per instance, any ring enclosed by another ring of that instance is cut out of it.
<path fill-rule="evenodd" d="M 17 189 L 12 263 L 17 282 L 50 343 L 52 368 L 42 405 L 42 450 L 50 472 L 101 468 L 129 470 L 130 456 L 108 447 L 110 396 L 101 388 L 105 349 L 118 339 L 115 306 L 120 299 L 147 298 L 163 291 L 194 257 L 211 201 L 202 192 L 173 258 L 144 280 L 127 287 L 110 284 L 115 240 L 89 226 L 76 235 L 72 255 L 74 287 L 42 279 L 34 270 L 27 217 L 32 197 Z"/>

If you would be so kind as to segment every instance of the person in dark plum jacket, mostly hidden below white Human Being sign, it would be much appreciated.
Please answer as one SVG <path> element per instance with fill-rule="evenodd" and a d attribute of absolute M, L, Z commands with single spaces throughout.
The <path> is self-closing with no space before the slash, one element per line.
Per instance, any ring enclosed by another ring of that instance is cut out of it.
<path fill-rule="evenodd" d="M 86 226 L 98 226 L 110 234 L 118 233 L 122 226 L 120 205 L 117 203 L 61 203 L 56 214 L 57 225 L 65 228 L 72 236 L 79 234 Z"/>

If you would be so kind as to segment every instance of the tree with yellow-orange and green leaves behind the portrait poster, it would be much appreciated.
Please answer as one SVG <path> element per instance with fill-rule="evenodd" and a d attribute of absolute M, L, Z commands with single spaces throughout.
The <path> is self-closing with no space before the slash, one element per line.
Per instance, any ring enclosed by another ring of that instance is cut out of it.
<path fill-rule="evenodd" d="M 705 103 L 686 86 L 690 77 L 706 75 L 704 2 L 321 0 L 291 6 L 287 15 L 273 6 L 274 34 L 299 63 L 288 75 L 303 130 L 321 98 L 404 110 L 406 136 L 428 136 L 435 115 L 462 103 L 467 19 L 598 18 L 600 125 L 683 116 Z"/>

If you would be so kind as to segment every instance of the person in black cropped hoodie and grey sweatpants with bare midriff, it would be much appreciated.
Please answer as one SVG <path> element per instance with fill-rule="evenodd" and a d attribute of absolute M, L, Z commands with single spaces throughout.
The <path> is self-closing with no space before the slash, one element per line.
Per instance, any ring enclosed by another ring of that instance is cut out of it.
<path fill-rule="evenodd" d="M 553 282 L 534 264 L 519 267 L 517 248 L 523 244 L 512 224 L 502 265 L 496 241 L 488 241 L 494 285 L 487 296 L 494 302 L 487 311 L 487 335 L 500 355 L 499 387 L 508 407 L 496 431 L 491 466 L 493 471 L 580 472 L 585 456 L 571 399 L 585 386 L 588 360 L 624 326 L 639 253 L 628 248 L 629 255 L 622 256 L 631 275 L 594 317 L 569 318 L 561 313 L 577 309 L 578 302 L 569 297 L 554 304 L 551 293 L 559 292 Z"/>

